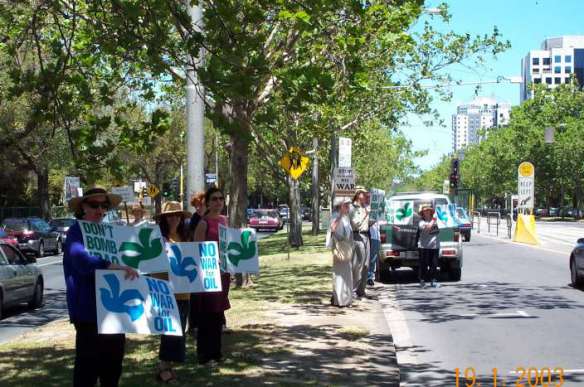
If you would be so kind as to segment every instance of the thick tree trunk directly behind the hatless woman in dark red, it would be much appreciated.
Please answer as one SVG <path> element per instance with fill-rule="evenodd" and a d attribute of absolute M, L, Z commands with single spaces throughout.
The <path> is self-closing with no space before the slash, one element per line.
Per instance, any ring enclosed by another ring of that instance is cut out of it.
<path fill-rule="evenodd" d="M 247 208 L 247 166 L 249 142 L 241 135 L 231 135 L 231 159 L 229 173 L 231 187 L 229 197 L 229 225 L 231 227 L 245 227 L 245 210 Z M 249 274 L 236 274 L 237 287 L 251 284 Z"/>

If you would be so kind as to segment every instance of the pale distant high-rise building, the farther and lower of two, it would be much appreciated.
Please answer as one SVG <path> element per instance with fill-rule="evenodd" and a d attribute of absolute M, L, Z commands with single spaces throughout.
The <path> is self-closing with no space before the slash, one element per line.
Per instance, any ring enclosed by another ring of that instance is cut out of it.
<path fill-rule="evenodd" d="M 458 105 L 456 114 L 452 115 L 452 148 L 458 152 L 470 144 L 478 144 L 484 137 L 481 130 L 506 125 L 510 112 L 511 105 L 488 97 Z"/>

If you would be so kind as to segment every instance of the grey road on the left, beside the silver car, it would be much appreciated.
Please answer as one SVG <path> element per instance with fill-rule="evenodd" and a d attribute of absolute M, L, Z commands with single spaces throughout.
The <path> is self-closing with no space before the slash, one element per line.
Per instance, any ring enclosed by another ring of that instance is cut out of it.
<path fill-rule="evenodd" d="M 259 232 L 258 239 L 272 233 Z M 0 343 L 9 341 L 20 334 L 51 321 L 67 317 L 65 298 L 65 278 L 63 276 L 62 255 L 39 258 L 37 266 L 45 280 L 45 302 L 42 308 L 29 310 L 26 304 L 7 309 L 6 316 L 0 321 Z"/>

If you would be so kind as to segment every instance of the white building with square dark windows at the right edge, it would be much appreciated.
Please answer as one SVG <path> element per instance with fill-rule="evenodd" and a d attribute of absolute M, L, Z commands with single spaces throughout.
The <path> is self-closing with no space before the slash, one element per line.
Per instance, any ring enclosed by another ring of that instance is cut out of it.
<path fill-rule="evenodd" d="M 529 51 L 521 61 L 521 102 L 532 97 L 532 83 L 555 87 L 573 75 L 584 85 L 584 35 L 544 40 L 540 50 Z"/>

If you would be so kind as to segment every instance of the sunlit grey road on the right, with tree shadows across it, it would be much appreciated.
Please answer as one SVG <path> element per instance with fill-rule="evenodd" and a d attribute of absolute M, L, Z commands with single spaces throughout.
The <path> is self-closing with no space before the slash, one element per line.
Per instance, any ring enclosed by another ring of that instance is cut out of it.
<path fill-rule="evenodd" d="M 529 386 L 520 367 L 537 368 L 540 376 L 544 368 L 563 368 L 563 386 L 582 385 L 584 292 L 569 279 L 565 252 L 476 234 L 465 243 L 460 282 L 421 289 L 413 271 L 399 270 L 380 300 L 402 385 L 456 386 L 459 368 L 465 386 L 468 368 L 468 376 L 473 370 L 479 376 L 475 386 L 493 386 L 497 368 L 497 386 Z M 531 373 L 532 385 L 541 386 Z M 549 385 L 561 385 L 559 372 Z"/>

